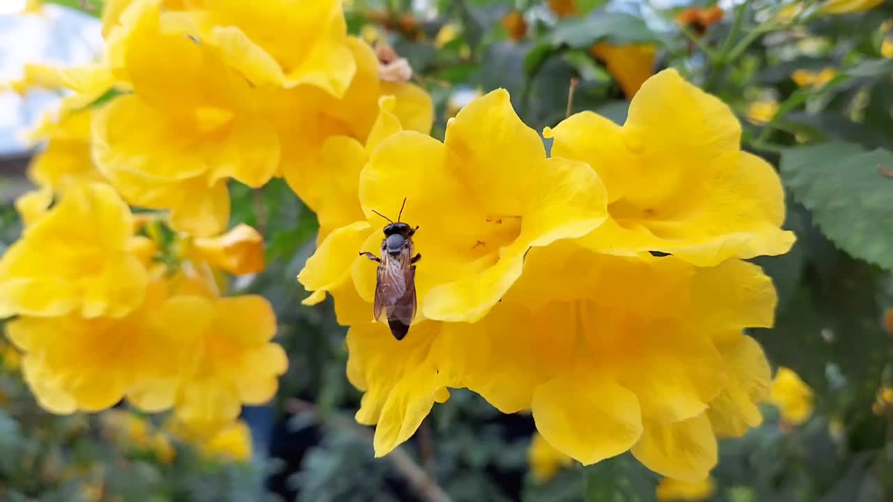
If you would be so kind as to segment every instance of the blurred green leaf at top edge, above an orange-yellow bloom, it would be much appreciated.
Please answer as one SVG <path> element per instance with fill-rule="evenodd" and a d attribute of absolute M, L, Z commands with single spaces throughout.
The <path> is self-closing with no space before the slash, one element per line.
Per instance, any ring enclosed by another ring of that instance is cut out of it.
<path fill-rule="evenodd" d="M 645 21 L 627 13 L 597 13 L 582 19 L 568 19 L 555 25 L 552 32 L 555 46 L 583 49 L 600 41 L 624 45 L 659 40 Z"/>

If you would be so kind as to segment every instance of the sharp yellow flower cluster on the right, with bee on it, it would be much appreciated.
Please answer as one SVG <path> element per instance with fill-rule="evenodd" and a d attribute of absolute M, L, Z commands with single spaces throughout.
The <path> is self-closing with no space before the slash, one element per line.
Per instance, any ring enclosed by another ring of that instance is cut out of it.
<path fill-rule="evenodd" d="M 740 150 L 740 125 L 714 96 L 662 71 L 623 126 L 596 113 L 547 137 L 505 90 L 465 106 L 441 143 L 401 130 L 382 102 L 365 146 L 330 163 L 352 173 L 328 197 L 332 222 L 298 276 L 305 303 L 335 298 L 356 414 L 385 455 L 448 388 L 504 413 L 530 410 L 542 438 L 583 464 L 630 450 L 665 476 L 702 481 L 716 438 L 761 422 L 770 370 L 743 333 L 772 324 L 775 291 L 743 261 L 788 251 L 772 166 Z M 372 319 L 385 221 L 424 255 L 405 339 Z M 339 225 L 339 226 L 338 226 Z"/>

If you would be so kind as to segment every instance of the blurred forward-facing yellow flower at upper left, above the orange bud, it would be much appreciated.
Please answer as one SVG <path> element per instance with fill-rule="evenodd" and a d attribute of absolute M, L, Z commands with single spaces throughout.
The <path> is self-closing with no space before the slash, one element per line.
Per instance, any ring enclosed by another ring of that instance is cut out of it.
<path fill-rule="evenodd" d="M 131 4 L 119 27 L 127 36 L 110 41 L 134 93 L 96 112 L 93 155 L 130 204 L 169 209 L 175 229 L 212 236 L 229 220 L 227 178 L 253 188 L 270 180 L 279 138 L 245 79 L 209 47 L 159 31 L 158 4 Z"/>

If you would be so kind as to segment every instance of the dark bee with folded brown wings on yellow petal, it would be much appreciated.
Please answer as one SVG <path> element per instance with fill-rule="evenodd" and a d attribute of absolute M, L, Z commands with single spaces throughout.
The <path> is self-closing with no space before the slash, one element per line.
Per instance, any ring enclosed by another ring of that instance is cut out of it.
<path fill-rule="evenodd" d="M 408 223 L 400 222 L 405 205 L 404 198 L 396 222 L 372 210 L 389 222 L 384 228 L 385 238 L 381 240 L 381 257 L 369 252 L 360 253 L 379 264 L 372 310 L 376 320 L 381 319 L 381 314 L 387 315 L 391 334 L 398 340 L 409 332 L 415 316 L 415 264 L 421 260 L 421 254 L 413 255 L 413 235 L 419 227 L 413 229 Z"/>

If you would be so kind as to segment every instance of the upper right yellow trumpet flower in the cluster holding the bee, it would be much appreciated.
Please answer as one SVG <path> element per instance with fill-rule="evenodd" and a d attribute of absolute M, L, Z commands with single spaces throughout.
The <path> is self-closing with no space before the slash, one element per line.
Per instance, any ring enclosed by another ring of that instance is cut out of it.
<path fill-rule="evenodd" d="M 794 242 L 780 230 L 778 174 L 741 151 L 729 107 L 675 70 L 647 80 L 623 126 L 584 112 L 546 132 L 552 155 L 588 163 L 605 182 L 611 217 L 586 238 L 592 249 L 660 251 L 710 266 L 780 255 Z"/>

